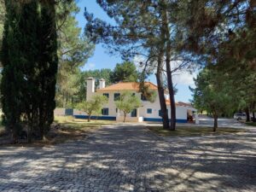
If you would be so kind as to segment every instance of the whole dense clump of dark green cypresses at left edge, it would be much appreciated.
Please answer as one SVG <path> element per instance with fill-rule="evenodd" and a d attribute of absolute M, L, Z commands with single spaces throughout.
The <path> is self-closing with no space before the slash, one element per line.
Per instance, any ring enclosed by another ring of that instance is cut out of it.
<path fill-rule="evenodd" d="M 55 3 L 5 1 L 1 99 L 16 140 L 26 127 L 43 138 L 53 122 L 58 68 Z M 40 9 L 39 9 L 40 8 Z"/>

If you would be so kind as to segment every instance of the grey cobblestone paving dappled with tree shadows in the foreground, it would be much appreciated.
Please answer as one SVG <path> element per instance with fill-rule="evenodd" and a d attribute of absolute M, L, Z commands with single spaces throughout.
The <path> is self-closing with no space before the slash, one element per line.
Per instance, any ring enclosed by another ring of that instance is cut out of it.
<path fill-rule="evenodd" d="M 102 127 L 82 141 L 0 148 L 0 191 L 256 191 L 256 138 Z"/>

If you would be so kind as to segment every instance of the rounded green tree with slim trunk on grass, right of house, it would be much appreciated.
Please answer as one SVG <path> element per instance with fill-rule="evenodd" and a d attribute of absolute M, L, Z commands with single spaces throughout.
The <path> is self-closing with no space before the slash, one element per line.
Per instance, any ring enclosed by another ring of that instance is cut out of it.
<path fill-rule="evenodd" d="M 195 108 L 212 113 L 215 119 L 214 129 L 218 124 L 217 119 L 221 113 L 233 113 L 236 109 L 234 97 L 231 94 L 231 84 L 224 74 L 213 69 L 205 68 L 195 79 L 193 101 Z"/>

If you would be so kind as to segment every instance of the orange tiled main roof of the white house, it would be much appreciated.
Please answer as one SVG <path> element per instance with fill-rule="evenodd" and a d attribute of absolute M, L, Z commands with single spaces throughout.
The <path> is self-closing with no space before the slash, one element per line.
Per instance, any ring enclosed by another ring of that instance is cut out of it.
<path fill-rule="evenodd" d="M 145 82 L 146 85 L 149 86 L 149 90 L 157 90 L 157 85 L 151 82 Z M 99 89 L 97 91 L 102 90 L 139 90 L 139 83 L 137 82 L 119 82 L 117 84 L 109 85 L 108 87 Z"/>

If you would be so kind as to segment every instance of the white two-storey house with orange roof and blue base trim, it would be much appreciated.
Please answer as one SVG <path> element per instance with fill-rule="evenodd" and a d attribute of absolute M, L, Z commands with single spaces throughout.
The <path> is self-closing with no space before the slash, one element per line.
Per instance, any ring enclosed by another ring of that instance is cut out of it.
<path fill-rule="evenodd" d="M 86 100 L 90 100 L 90 98 L 96 94 L 102 94 L 103 96 L 108 97 L 108 104 L 106 104 L 102 108 L 102 116 L 97 117 L 98 119 L 110 119 L 110 120 L 117 120 L 122 121 L 123 113 L 119 112 L 119 109 L 115 106 L 115 101 L 119 97 L 119 95 L 125 91 L 129 90 L 133 92 L 136 96 L 142 99 L 142 106 L 140 108 L 135 108 L 128 116 L 126 117 L 126 121 L 132 122 L 142 122 L 142 121 L 154 121 L 154 122 L 161 122 L 161 113 L 160 113 L 160 102 L 159 96 L 156 94 L 156 98 L 154 102 L 146 101 L 143 98 L 142 94 L 139 92 L 139 84 L 135 82 L 128 82 L 128 83 L 117 83 L 112 84 L 110 86 L 105 86 L 105 80 L 100 79 L 99 88 L 96 89 L 95 87 L 95 79 L 89 78 L 87 79 L 87 93 L 86 93 Z M 148 85 L 149 90 L 155 90 L 157 93 L 157 85 L 146 82 Z M 166 98 L 168 98 L 166 94 Z M 170 101 L 166 99 L 167 109 L 168 112 L 171 112 L 170 109 Z M 197 110 L 193 108 L 188 103 L 184 102 L 177 102 L 176 103 L 176 116 L 177 116 L 177 123 L 187 123 L 188 122 L 188 115 L 192 115 L 195 113 L 195 122 L 198 123 L 198 116 Z M 79 113 L 78 111 L 74 111 L 75 118 L 78 119 L 85 119 L 87 118 L 85 113 Z M 170 113 L 169 113 L 170 116 Z M 92 117 L 96 118 L 96 117 Z"/>

